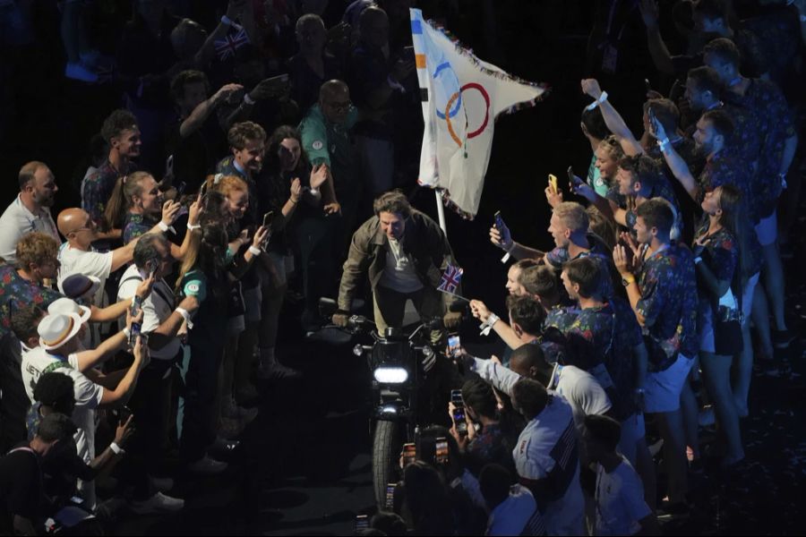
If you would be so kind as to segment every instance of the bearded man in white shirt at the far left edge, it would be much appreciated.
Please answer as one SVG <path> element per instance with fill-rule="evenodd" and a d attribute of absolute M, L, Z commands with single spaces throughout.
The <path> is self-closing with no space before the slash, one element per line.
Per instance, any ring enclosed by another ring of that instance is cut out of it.
<path fill-rule="evenodd" d="M 32 160 L 20 169 L 20 194 L 0 217 L 0 257 L 16 262 L 17 243 L 22 235 L 39 231 L 59 241 L 50 208 L 59 187 L 44 162 Z"/>

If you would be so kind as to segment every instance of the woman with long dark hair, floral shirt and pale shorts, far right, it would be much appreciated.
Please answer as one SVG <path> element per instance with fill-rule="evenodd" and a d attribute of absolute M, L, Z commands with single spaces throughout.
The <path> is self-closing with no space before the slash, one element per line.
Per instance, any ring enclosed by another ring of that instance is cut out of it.
<path fill-rule="evenodd" d="M 727 452 L 722 464 L 744 458 L 739 416 L 731 390 L 733 354 L 727 349 L 735 337 L 719 330 L 722 321 L 739 319 L 742 294 L 742 248 L 739 208 L 742 193 L 732 184 L 707 192 L 701 207 L 705 214 L 695 234 L 693 251 L 699 288 L 699 362 L 703 379 L 725 434 Z"/>

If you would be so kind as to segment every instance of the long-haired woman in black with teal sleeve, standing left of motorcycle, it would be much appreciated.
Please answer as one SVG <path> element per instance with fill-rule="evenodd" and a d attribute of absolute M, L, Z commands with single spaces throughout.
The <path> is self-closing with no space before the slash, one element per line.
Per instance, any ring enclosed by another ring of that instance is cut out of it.
<path fill-rule="evenodd" d="M 212 177 L 210 183 L 214 181 Z M 223 181 L 223 183 L 221 183 Z M 216 438 L 216 396 L 219 392 L 219 368 L 224 356 L 227 339 L 227 323 L 222 322 L 231 297 L 230 270 L 234 260 L 248 265 L 260 252 L 268 237 L 268 230 L 259 227 L 251 246 L 242 256 L 238 251 L 249 243 L 246 234 L 239 234 L 230 242 L 227 235 L 228 219 L 233 214 L 243 214 L 245 204 L 241 192 L 243 180 L 233 177 L 220 179 L 219 190 L 205 195 L 200 223 L 190 226 L 190 245 L 184 257 L 176 291 L 182 296 L 194 295 L 200 302 L 199 311 L 188 324 L 188 344 L 191 347 L 190 361 L 185 373 L 186 395 L 181 446 L 191 471 L 218 473 L 226 465 L 210 459 L 206 450 Z M 230 185 L 229 188 L 225 185 Z M 227 194 L 232 194 L 230 199 Z M 226 207 L 222 207 L 224 204 Z M 226 317 L 225 317 L 226 318 Z"/>

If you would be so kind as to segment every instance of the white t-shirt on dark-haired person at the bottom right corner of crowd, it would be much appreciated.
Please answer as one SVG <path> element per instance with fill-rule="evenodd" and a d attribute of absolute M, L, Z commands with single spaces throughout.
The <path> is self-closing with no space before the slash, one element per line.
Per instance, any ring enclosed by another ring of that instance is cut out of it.
<path fill-rule="evenodd" d="M 597 465 L 596 535 L 633 535 L 641 529 L 639 520 L 651 513 L 639 474 L 627 459 L 622 456 L 611 473 Z"/>

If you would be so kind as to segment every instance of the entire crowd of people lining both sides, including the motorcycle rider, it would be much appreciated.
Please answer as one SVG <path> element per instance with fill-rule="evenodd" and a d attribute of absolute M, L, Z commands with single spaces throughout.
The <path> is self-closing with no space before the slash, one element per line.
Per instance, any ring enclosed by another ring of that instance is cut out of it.
<path fill-rule="evenodd" d="M 88 4 L 62 3 L 61 30 L 65 76 L 92 84 Z M 343 326 L 362 286 L 381 330 L 408 299 L 449 330 L 462 321 L 435 289 L 461 259 L 395 190 L 414 185 L 420 145 L 411 2 L 229 0 L 208 29 L 167 4 L 133 2 L 116 55 L 124 107 L 90 141 L 80 204 L 51 214 L 42 155 L 0 217 L 0 533 L 109 531 L 120 501 L 181 510 L 167 457 L 224 472 L 215 454 L 255 419 L 257 379 L 298 376 L 277 353 L 287 296 L 308 335 L 330 323 L 320 298 L 338 293 Z M 443 21 L 462 9 L 433 4 Z M 514 261 L 507 311 L 472 300 L 466 319 L 506 350 L 437 356 L 461 392 L 450 427 L 419 431 L 359 533 L 657 533 L 656 513 L 690 509 L 704 461 L 733 472 L 745 459 L 753 364 L 794 337 L 780 248 L 792 216 L 778 209 L 800 187 L 802 15 L 679 2 L 672 55 L 654 0 L 601 4 L 600 64 L 580 83 L 590 166 L 544 191 L 554 248 L 516 242 L 502 211 L 489 239 Z M 0 38 L 24 44 L 28 16 L 29 2 L 0 1 Z M 639 74 L 676 78 L 667 96 L 619 94 L 636 21 L 655 67 Z M 715 423 L 706 449 L 699 428 Z"/>

